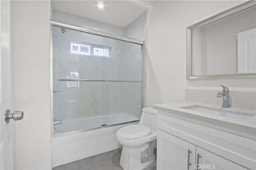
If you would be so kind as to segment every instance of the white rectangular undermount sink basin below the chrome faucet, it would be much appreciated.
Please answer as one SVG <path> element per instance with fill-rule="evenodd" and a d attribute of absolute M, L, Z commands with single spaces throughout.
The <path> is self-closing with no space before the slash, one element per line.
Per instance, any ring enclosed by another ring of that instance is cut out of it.
<path fill-rule="evenodd" d="M 252 117 L 254 115 L 246 114 L 246 113 L 239 113 L 234 111 L 227 111 L 222 109 L 213 109 L 208 107 L 202 107 L 202 106 L 187 106 L 183 107 L 184 109 L 199 111 L 203 113 L 209 113 L 213 115 L 220 115 L 224 117 L 229 117 L 233 119 L 248 119 L 249 117 Z"/>

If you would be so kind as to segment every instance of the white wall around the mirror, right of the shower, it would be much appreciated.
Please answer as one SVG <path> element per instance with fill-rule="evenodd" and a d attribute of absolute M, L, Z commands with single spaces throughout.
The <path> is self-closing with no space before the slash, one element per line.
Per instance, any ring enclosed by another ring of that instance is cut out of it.
<path fill-rule="evenodd" d="M 148 107 L 185 100 L 188 87 L 211 89 L 221 83 L 242 90 L 255 88 L 255 78 L 186 80 L 186 27 L 242 2 L 159 1 L 152 6 L 148 16 Z"/>

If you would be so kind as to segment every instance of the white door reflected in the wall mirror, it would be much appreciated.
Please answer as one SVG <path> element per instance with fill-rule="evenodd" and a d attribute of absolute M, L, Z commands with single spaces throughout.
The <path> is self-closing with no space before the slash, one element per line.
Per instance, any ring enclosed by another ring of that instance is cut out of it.
<path fill-rule="evenodd" d="M 256 72 L 256 28 L 237 36 L 238 73 Z"/>

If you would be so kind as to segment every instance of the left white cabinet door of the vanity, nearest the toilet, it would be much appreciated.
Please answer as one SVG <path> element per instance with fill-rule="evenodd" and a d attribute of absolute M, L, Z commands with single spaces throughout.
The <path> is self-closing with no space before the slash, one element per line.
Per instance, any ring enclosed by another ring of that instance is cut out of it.
<path fill-rule="evenodd" d="M 196 146 L 158 129 L 157 169 L 195 169 Z"/>

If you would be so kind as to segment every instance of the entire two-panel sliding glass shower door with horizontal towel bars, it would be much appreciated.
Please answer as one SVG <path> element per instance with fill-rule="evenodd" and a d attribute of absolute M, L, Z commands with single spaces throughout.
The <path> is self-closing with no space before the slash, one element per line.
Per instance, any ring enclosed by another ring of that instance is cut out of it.
<path fill-rule="evenodd" d="M 140 119 L 142 46 L 52 27 L 54 133 Z"/>

